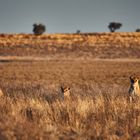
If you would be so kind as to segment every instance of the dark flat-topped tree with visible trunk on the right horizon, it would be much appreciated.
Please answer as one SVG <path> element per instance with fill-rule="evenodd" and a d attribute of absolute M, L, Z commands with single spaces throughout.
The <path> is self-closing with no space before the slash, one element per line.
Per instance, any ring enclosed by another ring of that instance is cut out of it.
<path fill-rule="evenodd" d="M 115 30 L 120 29 L 121 26 L 122 26 L 122 24 L 119 22 L 110 22 L 108 25 L 108 28 L 109 28 L 110 32 L 115 32 Z"/>

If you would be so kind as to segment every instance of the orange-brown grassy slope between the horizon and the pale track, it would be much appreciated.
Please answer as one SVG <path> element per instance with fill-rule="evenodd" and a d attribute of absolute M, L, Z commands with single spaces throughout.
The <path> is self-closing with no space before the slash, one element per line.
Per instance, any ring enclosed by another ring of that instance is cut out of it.
<path fill-rule="evenodd" d="M 140 33 L 0 34 L 0 56 L 139 58 Z"/>

